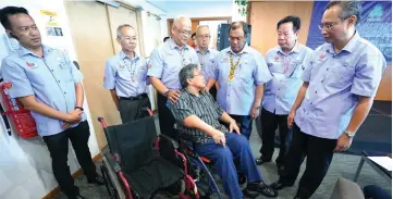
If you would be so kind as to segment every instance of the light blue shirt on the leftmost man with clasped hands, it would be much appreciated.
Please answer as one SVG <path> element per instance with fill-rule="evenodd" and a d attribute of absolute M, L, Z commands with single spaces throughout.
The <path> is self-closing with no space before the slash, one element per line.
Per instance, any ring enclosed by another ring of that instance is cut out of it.
<path fill-rule="evenodd" d="M 1 64 L 4 82 L 12 84 L 11 98 L 35 96 L 40 103 L 67 113 L 76 105 L 75 84 L 83 79 L 82 73 L 62 51 L 44 46 L 44 58 L 26 48 L 7 57 Z M 63 121 L 32 111 L 40 136 L 56 135 L 64 129 Z M 85 113 L 82 121 L 86 120 Z M 75 126 L 75 125 L 74 125 Z"/>

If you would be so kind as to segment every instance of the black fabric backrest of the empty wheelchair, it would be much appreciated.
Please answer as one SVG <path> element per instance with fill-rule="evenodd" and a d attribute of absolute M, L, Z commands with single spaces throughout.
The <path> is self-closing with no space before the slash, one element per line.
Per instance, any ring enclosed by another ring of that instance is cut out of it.
<path fill-rule="evenodd" d="M 155 119 L 147 116 L 130 123 L 109 126 L 108 145 L 120 157 L 121 166 L 128 172 L 149 164 L 158 157 L 152 144 L 157 138 Z"/>

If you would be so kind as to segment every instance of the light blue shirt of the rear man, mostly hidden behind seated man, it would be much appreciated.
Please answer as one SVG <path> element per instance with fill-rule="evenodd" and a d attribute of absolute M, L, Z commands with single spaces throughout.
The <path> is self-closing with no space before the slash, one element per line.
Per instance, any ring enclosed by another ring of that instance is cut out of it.
<path fill-rule="evenodd" d="M 200 64 L 200 74 L 204 75 L 205 80 L 208 82 L 213 75 L 214 59 L 219 54 L 219 51 L 207 49 L 206 52 L 201 52 L 199 48 L 196 48 L 195 51 Z"/>

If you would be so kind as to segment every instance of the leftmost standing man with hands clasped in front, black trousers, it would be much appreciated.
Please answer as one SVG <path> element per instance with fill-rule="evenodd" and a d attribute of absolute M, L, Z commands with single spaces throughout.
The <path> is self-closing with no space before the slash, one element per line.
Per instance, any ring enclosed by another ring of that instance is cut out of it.
<path fill-rule="evenodd" d="M 82 108 L 83 75 L 64 52 L 41 43 L 41 35 L 26 9 L 1 9 L 0 22 L 21 45 L 1 64 L 4 80 L 12 84 L 9 95 L 32 112 L 61 190 L 70 199 L 83 199 L 67 165 L 69 140 L 88 182 L 103 184 L 87 145 L 90 132 Z"/>

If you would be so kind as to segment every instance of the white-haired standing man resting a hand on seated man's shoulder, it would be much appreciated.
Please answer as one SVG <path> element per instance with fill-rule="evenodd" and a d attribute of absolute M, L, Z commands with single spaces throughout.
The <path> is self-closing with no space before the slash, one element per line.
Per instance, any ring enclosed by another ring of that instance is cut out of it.
<path fill-rule="evenodd" d="M 195 50 L 187 45 L 192 35 L 191 28 L 192 22 L 188 17 L 174 18 L 172 37 L 151 52 L 147 73 L 150 83 L 158 91 L 160 130 L 171 137 L 176 135 L 173 129 L 175 121 L 167 107 L 167 101 L 174 103 L 179 99 L 179 90 L 182 88 L 179 82 L 180 70 L 189 63 L 198 64 Z"/>

